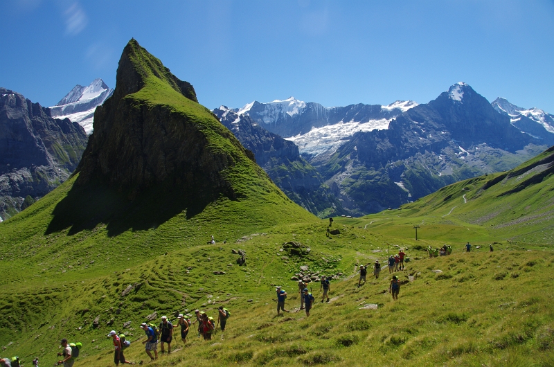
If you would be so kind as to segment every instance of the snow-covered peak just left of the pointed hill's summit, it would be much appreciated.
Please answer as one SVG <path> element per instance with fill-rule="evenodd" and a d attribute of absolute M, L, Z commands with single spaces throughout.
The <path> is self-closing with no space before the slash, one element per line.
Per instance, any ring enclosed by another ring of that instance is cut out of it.
<path fill-rule="evenodd" d="M 75 85 L 57 105 L 50 107 L 55 118 L 69 118 L 79 123 L 87 134 L 92 134 L 92 123 L 96 107 L 102 105 L 114 93 L 102 79 L 95 79 L 87 87 Z"/>

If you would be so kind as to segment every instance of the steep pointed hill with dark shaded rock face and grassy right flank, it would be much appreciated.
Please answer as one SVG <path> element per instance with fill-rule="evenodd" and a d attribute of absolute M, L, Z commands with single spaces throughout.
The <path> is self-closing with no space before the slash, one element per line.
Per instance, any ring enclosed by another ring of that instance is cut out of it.
<path fill-rule="evenodd" d="M 49 231 L 90 229 L 101 222 L 110 233 L 121 233 L 204 211 L 215 217 L 238 211 L 244 222 L 263 218 L 267 224 L 307 214 L 199 105 L 193 86 L 134 39 L 121 55 L 113 96 L 96 108 L 75 177 Z"/>

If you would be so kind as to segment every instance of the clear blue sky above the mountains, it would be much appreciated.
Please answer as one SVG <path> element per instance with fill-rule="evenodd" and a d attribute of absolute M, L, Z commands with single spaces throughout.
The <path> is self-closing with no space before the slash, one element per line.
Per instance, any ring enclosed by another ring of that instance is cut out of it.
<path fill-rule="evenodd" d="M 209 108 L 429 102 L 456 82 L 554 114 L 554 1 L 0 1 L 0 86 L 55 105 L 139 44 Z"/>

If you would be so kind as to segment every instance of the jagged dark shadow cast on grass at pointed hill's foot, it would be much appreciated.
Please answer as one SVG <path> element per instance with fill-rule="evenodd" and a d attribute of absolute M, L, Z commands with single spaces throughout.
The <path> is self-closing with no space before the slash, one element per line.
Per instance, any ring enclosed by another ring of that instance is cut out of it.
<path fill-rule="evenodd" d="M 73 185 L 68 195 L 53 211 L 53 219 L 46 235 L 69 228 L 69 235 L 107 224 L 110 237 L 125 231 L 143 231 L 157 228 L 179 213 L 186 212 L 186 218 L 202 213 L 217 197 L 214 193 L 188 193 L 171 184 L 159 185 L 136 195 L 129 200 L 126 193 L 100 183 L 85 186 Z"/>

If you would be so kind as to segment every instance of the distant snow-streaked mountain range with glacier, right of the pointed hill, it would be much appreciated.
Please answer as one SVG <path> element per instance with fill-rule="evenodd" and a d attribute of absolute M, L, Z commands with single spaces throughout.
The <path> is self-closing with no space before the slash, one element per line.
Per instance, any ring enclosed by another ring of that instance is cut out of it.
<path fill-rule="evenodd" d="M 242 108 L 222 106 L 214 113 L 224 124 L 234 125 L 235 134 L 246 121 L 256 125 L 251 134 L 267 129 L 296 143 L 299 154 L 287 156 L 288 167 L 301 163 L 303 172 L 310 172 L 312 186 L 296 185 L 292 192 L 313 191 L 317 177 L 317 190 L 328 193 L 328 202 L 309 210 L 320 216 L 395 208 L 449 183 L 514 168 L 554 143 L 552 115 L 501 98 L 491 104 L 463 82 L 424 105 L 397 101 L 387 106 L 323 107 L 291 97 Z M 244 135 L 242 129 L 238 138 L 248 147 L 255 139 Z M 258 159 L 260 152 L 252 150 Z M 271 161 L 270 153 L 264 152 L 264 162 Z M 287 163 L 282 153 L 277 155 L 280 174 L 265 169 L 280 182 L 278 177 L 287 176 Z M 296 179 L 307 182 L 305 177 Z"/>

